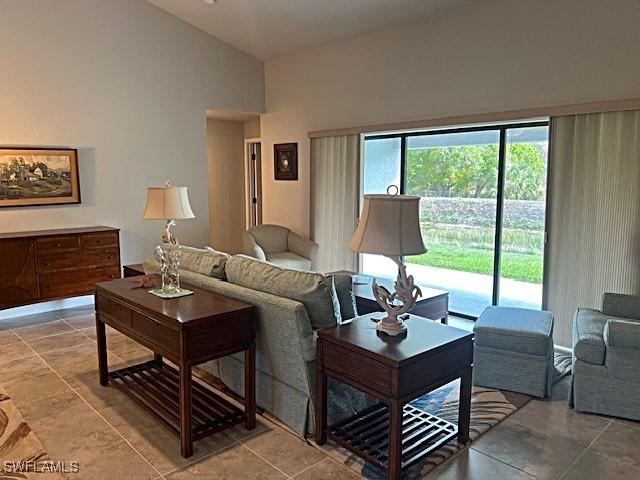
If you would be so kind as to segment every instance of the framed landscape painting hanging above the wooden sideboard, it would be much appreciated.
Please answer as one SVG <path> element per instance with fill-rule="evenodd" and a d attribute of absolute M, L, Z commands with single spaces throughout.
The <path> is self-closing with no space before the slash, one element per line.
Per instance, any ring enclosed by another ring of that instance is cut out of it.
<path fill-rule="evenodd" d="M 74 149 L 0 148 L 0 207 L 80 203 Z"/>

